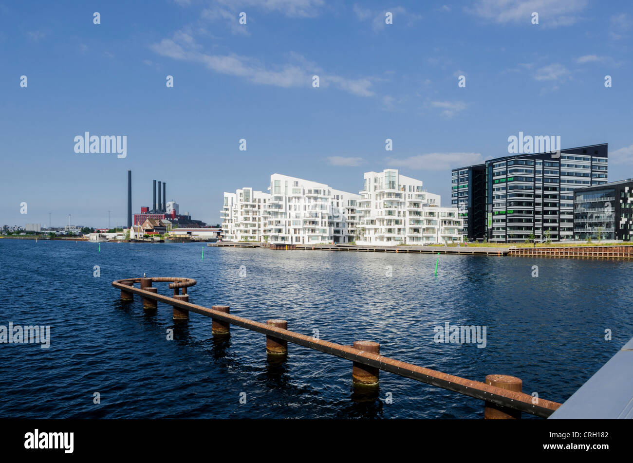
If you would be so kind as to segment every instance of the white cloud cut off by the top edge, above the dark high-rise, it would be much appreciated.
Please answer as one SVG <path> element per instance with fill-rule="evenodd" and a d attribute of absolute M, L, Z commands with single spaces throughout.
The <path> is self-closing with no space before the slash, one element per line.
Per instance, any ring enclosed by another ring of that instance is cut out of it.
<path fill-rule="evenodd" d="M 479 0 L 472 8 L 473 15 L 499 24 L 525 23 L 531 25 L 532 13 L 539 13 L 539 25 L 568 26 L 579 20 L 579 13 L 587 0 Z"/>

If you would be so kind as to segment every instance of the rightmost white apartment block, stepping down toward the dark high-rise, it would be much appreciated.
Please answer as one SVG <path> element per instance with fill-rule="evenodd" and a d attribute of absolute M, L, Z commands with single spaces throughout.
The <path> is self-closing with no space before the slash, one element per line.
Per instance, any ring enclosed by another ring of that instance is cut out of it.
<path fill-rule="evenodd" d="M 440 196 L 422 180 L 396 169 L 365 172 L 358 202 L 356 244 L 436 244 L 461 241 L 463 219 L 456 207 L 441 207 Z"/>

